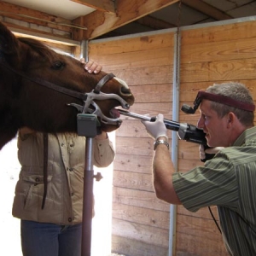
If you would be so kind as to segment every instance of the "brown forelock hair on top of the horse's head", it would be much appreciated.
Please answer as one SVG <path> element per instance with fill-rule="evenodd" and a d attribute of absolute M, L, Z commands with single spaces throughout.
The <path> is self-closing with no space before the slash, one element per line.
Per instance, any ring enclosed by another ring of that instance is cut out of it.
<path fill-rule="evenodd" d="M 38 40 L 32 38 L 18 38 L 18 40 L 21 43 L 28 45 L 31 49 L 33 49 L 33 52 L 37 53 L 38 55 L 46 57 L 48 59 L 53 58 L 53 51 L 49 49 L 48 46 L 39 42 Z"/>

